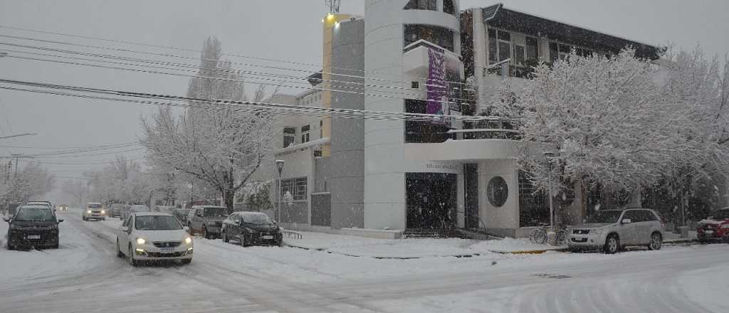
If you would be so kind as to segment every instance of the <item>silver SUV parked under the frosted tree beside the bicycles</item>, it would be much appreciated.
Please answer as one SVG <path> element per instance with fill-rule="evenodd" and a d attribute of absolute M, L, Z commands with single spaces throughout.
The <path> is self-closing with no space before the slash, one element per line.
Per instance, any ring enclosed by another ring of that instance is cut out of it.
<path fill-rule="evenodd" d="M 663 243 L 660 215 L 648 209 L 601 210 L 582 226 L 567 231 L 570 250 L 602 248 L 612 254 L 628 245 L 646 245 L 650 250 L 658 250 Z"/>

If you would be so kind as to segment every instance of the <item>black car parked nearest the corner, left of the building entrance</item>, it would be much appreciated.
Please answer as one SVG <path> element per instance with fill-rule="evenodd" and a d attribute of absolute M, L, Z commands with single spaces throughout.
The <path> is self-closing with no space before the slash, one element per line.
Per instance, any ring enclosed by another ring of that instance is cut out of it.
<path fill-rule="evenodd" d="M 281 228 L 260 212 L 234 212 L 223 221 L 224 242 L 235 240 L 243 247 L 249 245 L 282 245 Z"/>

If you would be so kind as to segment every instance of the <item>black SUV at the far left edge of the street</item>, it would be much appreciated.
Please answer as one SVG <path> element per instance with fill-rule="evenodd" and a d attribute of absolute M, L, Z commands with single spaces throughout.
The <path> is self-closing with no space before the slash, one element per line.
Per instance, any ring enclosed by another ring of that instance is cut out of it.
<path fill-rule="evenodd" d="M 4 218 L 10 224 L 7 230 L 7 248 L 52 247 L 58 248 L 58 219 L 47 205 L 23 205 L 11 218 Z"/>

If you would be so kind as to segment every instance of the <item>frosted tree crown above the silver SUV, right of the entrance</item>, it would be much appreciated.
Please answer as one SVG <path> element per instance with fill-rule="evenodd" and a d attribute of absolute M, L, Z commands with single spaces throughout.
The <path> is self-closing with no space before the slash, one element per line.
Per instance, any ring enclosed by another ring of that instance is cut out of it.
<path fill-rule="evenodd" d="M 657 75 L 658 66 L 630 49 L 613 58 L 573 52 L 535 68 L 534 79 L 496 106 L 521 118 L 524 140 L 543 143 L 542 151 L 525 150 L 521 158 L 540 189 L 547 186 L 547 151 L 555 152 L 553 177 L 561 178 L 553 180 L 552 194 L 574 181 L 636 189 L 658 181 L 657 166 L 689 146 L 677 136 L 687 109 L 666 102 Z"/>

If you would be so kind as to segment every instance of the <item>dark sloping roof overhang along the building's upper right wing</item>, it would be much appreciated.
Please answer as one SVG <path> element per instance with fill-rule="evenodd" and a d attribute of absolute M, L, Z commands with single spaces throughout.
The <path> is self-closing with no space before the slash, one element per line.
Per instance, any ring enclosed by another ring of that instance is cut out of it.
<path fill-rule="evenodd" d="M 545 17 L 507 9 L 504 8 L 504 4 L 495 4 L 483 8 L 483 21 L 496 28 L 526 33 L 529 36 L 546 36 L 548 39 L 561 41 L 565 44 L 574 44 L 615 54 L 630 46 L 636 49 L 638 58 L 650 60 L 657 60 L 660 53 L 665 50 L 663 47 L 655 47 Z"/>

